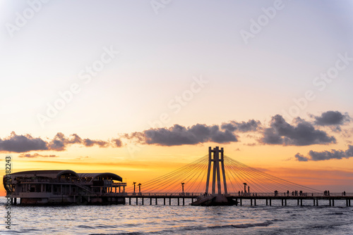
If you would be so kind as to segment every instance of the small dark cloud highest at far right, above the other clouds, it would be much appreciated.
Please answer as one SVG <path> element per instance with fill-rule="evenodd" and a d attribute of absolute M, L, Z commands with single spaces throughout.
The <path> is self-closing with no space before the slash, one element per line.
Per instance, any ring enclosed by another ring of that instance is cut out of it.
<path fill-rule="evenodd" d="M 314 116 L 314 118 L 315 124 L 320 126 L 345 125 L 351 120 L 347 113 L 342 114 L 339 111 L 327 111 L 322 113 L 321 116 Z"/>

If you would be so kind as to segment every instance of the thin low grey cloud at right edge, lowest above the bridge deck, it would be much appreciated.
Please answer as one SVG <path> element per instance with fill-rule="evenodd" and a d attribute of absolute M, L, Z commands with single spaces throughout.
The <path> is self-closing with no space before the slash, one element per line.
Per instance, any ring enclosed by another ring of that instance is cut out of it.
<path fill-rule="evenodd" d="M 352 145 L 349 145 L 346 151 L 332 149 L 331 151 L 322 151 L 322 152 L 309 151 L 308 157 L 304 157 L 304 155 L 301 155 L 300 153 L 297 153 L 295 155 L 295 158 L 297 158 L 297 160 L 301 162 L 303 161 L 306 162 L 308 160 L 318 161 L 318 160 L 343 159 L 343 158 L 352 158 L 352 157 L 353 157 Z"/>

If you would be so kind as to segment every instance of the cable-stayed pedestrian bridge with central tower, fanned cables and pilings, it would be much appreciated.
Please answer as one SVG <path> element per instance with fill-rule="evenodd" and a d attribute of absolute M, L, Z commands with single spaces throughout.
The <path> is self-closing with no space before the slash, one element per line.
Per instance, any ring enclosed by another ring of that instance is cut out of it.
<path fill-rule="evenodd" d="M 242 205 L 242 200 L 249 199 L 251 205 L 256 205 L 256 200 L 263 199 L 266 205 L 272 200 L 279 199 L 282 205 L 287 205 L 287 200 L 296 199 L 298 205 L 303 200 L 313 200 L 313 205 L 318 205 L 318 200 L 326 199 L 329 205 L 334 205 L 336 200 L 346 200 L 347 206 L 353 199 L 353 193 L 330 193 L 330 191 L 318 191 L 280 179 L 261 170 L 240 163 L 237 160 L 224 155 L 223 148 L 209 147 L 208 155 L 180 167 L 177 170 L 160 177 L 128 187 L 126 198 L 131 204 L 131 198 L 140 198 L 140 204 L 145 199 L 152 198 L 157 204 L 158 198 L 182 199 L 183 205 L 186 198 L 191 198 L 191 205 Z M 194 201 L 196 200 L 196 201 Z"/>

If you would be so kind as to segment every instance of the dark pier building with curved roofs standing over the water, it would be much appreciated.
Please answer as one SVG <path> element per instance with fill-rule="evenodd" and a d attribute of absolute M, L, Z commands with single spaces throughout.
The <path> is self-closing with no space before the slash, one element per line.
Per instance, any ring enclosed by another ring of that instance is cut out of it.
<path fill-rule="evenodd" d="M 3 183 L 14 204 L 125 203 L 126 183 L 109 172 L 31 170 L 4 175 Z"/>

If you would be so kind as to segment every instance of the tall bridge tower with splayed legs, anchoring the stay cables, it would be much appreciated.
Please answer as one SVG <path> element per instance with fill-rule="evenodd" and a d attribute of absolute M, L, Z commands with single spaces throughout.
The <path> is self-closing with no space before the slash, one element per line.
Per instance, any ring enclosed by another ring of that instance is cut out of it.
<path fill-rule="evenodd" d="M 213 163 L 213 164 L 212 164 Z M 211 166 L 212 165 L 212 166 Z M 208 148 L 208 172 L 206 181 L 206 191 L 208 194 L 208 185 L 210 184 L 211 168 L 213 169 L 212 177 L 212 195 L 215 195 L 216 182 L 217 182 L 217 194 L 222 194 L 222 181 L 224 194 L 227 195 L 227 182 L 225 179 L 225 162 L 224 162 L 224 151 L 223 148 L 216 146 L 215 148 Z M 220 177 L 220 170 L 222 170 L 222 178 Z"/>

